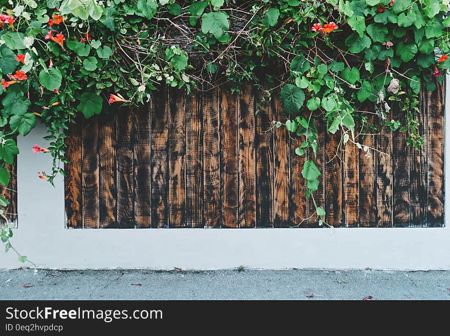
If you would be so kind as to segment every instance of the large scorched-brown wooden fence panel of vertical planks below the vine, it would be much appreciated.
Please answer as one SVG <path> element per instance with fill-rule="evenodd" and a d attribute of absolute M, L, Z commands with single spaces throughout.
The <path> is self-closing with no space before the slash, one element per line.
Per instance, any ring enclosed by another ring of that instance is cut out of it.
<path fill-rule="evenodd" d="M 149 104 L 80 120 L 69 131 L 65 166 L 69 228 L 317 227 L 304 197 L 303 157 L 284 128 L 274 95 L 255 116 L 260 93 L 220 89 L 193 97 L 154 92 Z M 319 190 L 334 227 L 440 227 L 444 202 L 443 86 L 420 95 L 421 150 L 386 131 L 363 144 L 368 158 L 319 125 Z M 116 107 L 111 106 L 111 108 Z M 394 117 L 396 117 L 394 115 Z M 398 118 L 396 118 L 398 119 Z"/>

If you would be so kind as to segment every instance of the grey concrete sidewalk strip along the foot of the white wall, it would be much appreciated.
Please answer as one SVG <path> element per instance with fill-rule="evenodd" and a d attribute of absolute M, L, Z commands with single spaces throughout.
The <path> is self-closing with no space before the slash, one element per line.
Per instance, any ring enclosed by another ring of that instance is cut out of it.
<path fill-rule="evenodd" d="M 450 271 L 0 271 L 1 300 L 449 300 L 449 288 Z"/>

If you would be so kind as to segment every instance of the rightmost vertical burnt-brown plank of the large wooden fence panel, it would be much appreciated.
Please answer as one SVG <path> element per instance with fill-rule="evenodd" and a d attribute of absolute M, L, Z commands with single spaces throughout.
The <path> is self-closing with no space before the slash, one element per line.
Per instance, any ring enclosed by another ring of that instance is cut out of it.
<path fill-rule="evenodd" d="M 427 94 L 428 214 L 430 227 L 444 226 L 444 102 L 445 82 Z"/>

